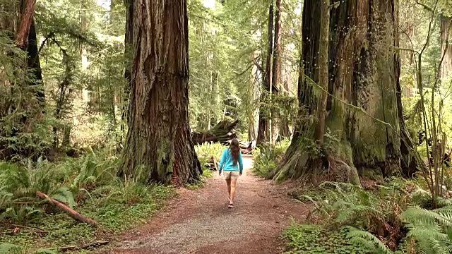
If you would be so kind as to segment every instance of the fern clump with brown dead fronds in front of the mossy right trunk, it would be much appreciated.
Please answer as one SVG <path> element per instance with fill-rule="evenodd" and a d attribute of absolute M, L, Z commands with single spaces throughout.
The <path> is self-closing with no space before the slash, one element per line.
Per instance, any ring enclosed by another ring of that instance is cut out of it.
<path fill-rule="evenodd" d="M 350 183 L 326 182 L 320 187 L 328 198 L 317 205 L 316 211 L 328 216 L 324 218 L 327 224 L 335 229 L 348 225 L 365 229 L 353 230 L 350 237 L 374 253 L 388 253 L 397 248 L 403 237 L 399 205 L 403 206 L 408 196 L 400 191 L 403 187 L 379 186 L 377 192 L 365 191 Z"/>

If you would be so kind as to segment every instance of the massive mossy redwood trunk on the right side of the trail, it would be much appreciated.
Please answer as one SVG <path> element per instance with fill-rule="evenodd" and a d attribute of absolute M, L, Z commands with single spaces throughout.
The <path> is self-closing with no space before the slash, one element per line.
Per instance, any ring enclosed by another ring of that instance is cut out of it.
<path fill-rule="evenodd" d="M 347 165 L 348 181 L 357 184 L 356 168 L 376 168 L 388 174 L 400 169 L 400 163 L 403 167 L 408 164 L 401 147 L 412 145 L 400 139 L 405 130 L 400 124 L 398 103 L 397 6 L 397 0 L 350 0 L 331 8 L 328 51 L 331 72 L 324 128 L 335 138 L 325 140 L 326 148 L 319 155 L 312 152 L 311 142 L 318 135 L 311 116 L 319 111 L 323 93 L 317 84 L 325 78 L 317 68 L 321 50 L 321 20 L 317 17 L 321 16 L 321 1 L 304 1 L 298 99 L 299 107 L 306 109 L 302 116 L 307 121 L 297 125 L 285 160 L 275 171 L 275 179 L 314 173 L 310 171 L 312 158 L 319 156 L 328 159 L 325 167 Z"/>

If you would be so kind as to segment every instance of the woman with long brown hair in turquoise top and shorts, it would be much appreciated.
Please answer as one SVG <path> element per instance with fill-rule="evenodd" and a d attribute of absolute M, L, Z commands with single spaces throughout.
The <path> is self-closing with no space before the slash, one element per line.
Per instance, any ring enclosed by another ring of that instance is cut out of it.
<path fill-rule="evenodd" d="M 221 176 L 221 171 L 224 171 L 223 175 L 227 183 L 227 192 L 229 193 L 229 208 L 234 207 L 235 186 L 237 185 L 237 179 L 242 176 L 243 161 L 242 152 L 240 152 L 239 140 L 234 138 L 231 141 L 229 148 L 223 151 L 220 159 L 220 169 L 218 174 Z"/>

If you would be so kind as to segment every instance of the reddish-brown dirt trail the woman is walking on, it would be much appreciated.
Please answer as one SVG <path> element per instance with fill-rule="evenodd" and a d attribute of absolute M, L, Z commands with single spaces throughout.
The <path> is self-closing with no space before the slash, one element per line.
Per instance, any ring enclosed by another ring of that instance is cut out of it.
<path fill-rule="evenodd" d="M 291 217 L 303 221 L 309 209 L 287 198 L 282 186 L 246 174 L 252 164 L 244 156 L 233 209 L 227 208 L 225 181 L 215 172 L 204 188 L 182 189 L 167 209 L 102 253 L 281 253 L 283 229 Z"/>

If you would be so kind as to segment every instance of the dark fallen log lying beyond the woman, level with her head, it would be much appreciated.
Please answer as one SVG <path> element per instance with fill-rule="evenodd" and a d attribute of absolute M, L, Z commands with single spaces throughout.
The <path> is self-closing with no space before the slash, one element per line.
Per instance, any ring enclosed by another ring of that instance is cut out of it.
<path fill-rule="evenodd" d="M 232 140 L 233 138 L 237 138 L 237 134 L 234 131 L 234 128 L 239 123 L 239 120 L 236 121 L 227 121 L 223 120 L 220 123 L 217 123 L 210 131 L 205 132 L 193 132 L 191 133 L 191 139 L 195 145 L 200 145 L 206 142 L 213 143 L 222 143 L 225 144 L 227 141 Z"/>

